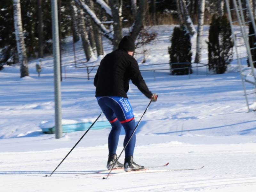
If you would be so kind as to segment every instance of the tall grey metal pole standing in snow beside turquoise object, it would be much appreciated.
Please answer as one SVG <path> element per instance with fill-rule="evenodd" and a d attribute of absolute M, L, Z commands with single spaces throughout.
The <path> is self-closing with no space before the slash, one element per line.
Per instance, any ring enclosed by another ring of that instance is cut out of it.
<path fill-rule="evenodd" d="M 55 101 L 55 138 L 60 139 L 61 129 L 61 92 L 60 92 L 60 44 L 58 26 L 57 0 L 51 0 L 52 4 L 52 42 L 54 58 L 54 101 Z"/>

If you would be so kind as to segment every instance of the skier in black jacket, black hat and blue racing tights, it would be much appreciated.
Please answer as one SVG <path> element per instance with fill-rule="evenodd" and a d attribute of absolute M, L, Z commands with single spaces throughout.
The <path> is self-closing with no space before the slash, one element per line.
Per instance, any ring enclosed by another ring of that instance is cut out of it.
<path fill-rule="evenodd" d="M 121 127 L 124 127 L 124 146 L 129 140 L 135 128 L 132 106 L 128 100 L 127 92 L 129 81 L 152 101 L 157 100 L 157 95 L 152 94 L 143 80 L 137 61 L 133 58 L 135 50 L 134 40 L 131 36 L 124 36 L 118 45 L 118 49 L 107 54 L 100 62 L 100 67 L 94 77 L 97 102 L 112 126 L 108 136 L 108 163 L 110 170 L 117 159 L 116 148 Z M 133 161 L 135 147 L 135 134 L 125 148 L 124 164 L 116 162 L 113 167 L 124 167 L 125 172 L 144 169 Z"/>

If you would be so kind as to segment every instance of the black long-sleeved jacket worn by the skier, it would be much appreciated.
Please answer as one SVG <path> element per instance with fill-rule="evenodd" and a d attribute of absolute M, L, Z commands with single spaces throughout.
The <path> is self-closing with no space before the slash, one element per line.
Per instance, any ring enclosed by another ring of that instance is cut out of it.
<path fill-rule="evenodd" d="M 128 52 L 117 49 L 107 54 L 100 62 L 100 67 L 94 77 L 96 97 L 117 96 L 127 97 L 129 81 L 151 98 L 152 93 L 143 80 L 137 61 Z"/>

